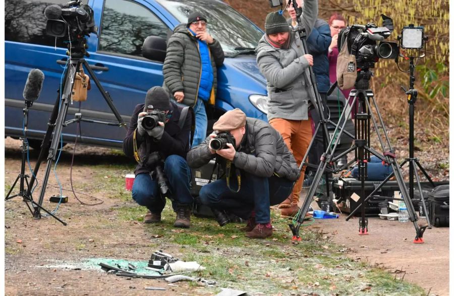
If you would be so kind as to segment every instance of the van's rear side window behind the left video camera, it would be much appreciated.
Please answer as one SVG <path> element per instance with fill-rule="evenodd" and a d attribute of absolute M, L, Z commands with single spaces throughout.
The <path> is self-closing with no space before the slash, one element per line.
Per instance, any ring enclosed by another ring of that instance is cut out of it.
<path fill-rule="evenodd" d="M 63 38 L 46 35 L 44 9 L 51 4 L 66 4 L 68 0 L 6 0 L 5 40 L 48 46 L 67 47 Z M 87 0 L 83 1 L 87 4 Z"/>

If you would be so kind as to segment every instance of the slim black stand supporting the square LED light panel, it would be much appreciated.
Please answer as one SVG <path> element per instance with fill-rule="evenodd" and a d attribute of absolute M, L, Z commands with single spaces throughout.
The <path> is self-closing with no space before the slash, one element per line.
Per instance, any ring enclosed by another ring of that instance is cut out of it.
<path fill-rule="evenodd" d="M 418 90 L 414 89 L 415 85 L 415 76 L 414 76 L 414 70 L 415 70 L 415 64 L 414 64 L 414 57 L 410 57 L 410 88 L 409 90 L 405 90 L 404 87 L 402 87 L 405 91 L 405 93 L 408 95 L 408 104 L 409 104 L 409 157 L 406 158 L 402 163 L 401 163 L 401 168 L 408 162 L 409 163 L 409 190 L 410 190 L 410 198 L 413 200 L 414 199 L 414 179 L 413 179 L 413 174 L 415 175 L 416 179 L 416 184 L 418 185 L 418 190 L 419 194 L 421 196 L 421 203 L 422 207 L 424 210 L 424 213 L 426 214 L 426 220 L 428 224 L 428 228 L 432 228 L 430 224 L 430 219 L 428 215 L 428 211 L 426 209 L 426 203 L 424 200 L 423 192 L 421 189 L 421 181 L 419 179 L 418 175 L 418 167 L 422 171 L 422 173 L 426 176 L 426 179 L 430 182 L 432 187 L 435 187 L 435 184 L 433 183 L 432 179 L 430 176 L 427 174 L 425 169 L 422 167 L 422 165 L 419 163 L 419 159 L 415 158 L 415 103 L 418 97 Z"/>

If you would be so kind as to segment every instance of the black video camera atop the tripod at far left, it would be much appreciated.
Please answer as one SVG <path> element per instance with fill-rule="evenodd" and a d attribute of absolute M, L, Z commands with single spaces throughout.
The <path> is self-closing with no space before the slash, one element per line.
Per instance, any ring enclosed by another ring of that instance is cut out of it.
<path fill-rule="evenodd" d="M 44 15 L 47 18 L 46 34 L 49 36 L 67 36 L 70 40 L 76 40 L 89 36 L 90 33 L 96 34 L 93 9 L 88 5 L 82 5 L 81 0 L 68 2 L 62 7 L 56 4 L 49 5 L 45 8 Z"/>

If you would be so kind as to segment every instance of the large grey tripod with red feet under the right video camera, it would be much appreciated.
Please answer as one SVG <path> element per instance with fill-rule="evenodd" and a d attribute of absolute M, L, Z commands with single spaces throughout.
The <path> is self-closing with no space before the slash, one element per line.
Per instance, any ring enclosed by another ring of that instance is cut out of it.
<path fill-rule="evenodd" d="M 372 65 L 373 66 L 373 65 Z M 358 101 L 359 106 L 357 109 L 357 114 L 355 115 L 355 141 L 354 144 L 350 149 L 347 151 L 343 152 L 339 156 L 343 156 L 350 151 L 355 150 L 355 158 L 358 162 L 359 166 L 359 176 L 361 180 L 361 200 L 362 203 L 359 205 L 354 211 L 351 212 L 351 214 L 347 217 L 347 220 L 349 220 L 353 214 L 361 207 L 361 219 L 359 220 L 359 234 L 364 235 L 368 233 L 368 221 L 367 218 L 365 218 L 365 202 L 369 200 L 375 192 L 380 190 L 380 188 L 390 179 L 392 175 L 395 175 L 395 179 L 399 185 L 399 189 L 401 190 L 401 193 L 403 195 L 403 200 L 405 204 L 407 205 L 407 209 L 409 211 L 409 218 L 413 222 L 415 229 L 416 229 L 416 238 L 413 241 L 414 243 L 424 243 L 422 239 L 422 235 L 424 233 L 424 230 L 426 229 L 427 226 L 421 226 L 419 227 L 416 221 L 418 220 L 418 217 L 416 216 L 415 209 L 413 208 L 413 204 L 411 202 L 411 199 L 408 195 L 404 178 L 402 176 L 402 172 L 400 170 L 400 166 L 398 165 L 395 154 L 393 152 L 393 149 L 391 148 L 391 143 L 389 141 L 389 138 L 386 133 L 386 129 L 383 124 L 383 119 L 380 115 L 380 112 L 378 110 L 377 103 L 374 98 L 374 94 L 371 89 L 369 89 L 369 80 L 372 76 L 372 72 L 369 70 L 369 68 L 363 67 L 361 70 L 358 72 L 358 78 L 355 83 L 355 89 L 350 92 L 350 96 L 353 96 L 353 103 L 352 105 L 346 105 L 344 107 L 344 110 L 342 112 L 342 115 L 347 111 L 348 113 L 351 112 L 351 109 L 353 106 L 355 106 L 356 101 Z M 378 115 L 378 120 L 379 120 L 379 125 L 377 124 L 377 121 L 375 119 L 375 116 L 371 112 L 371 104 L 370 102 L 372 101 L 373 106 L 377 112 Z M 383 152 L 383 154 L 379 153 L 378 151 L 374 150 L 373 148 L 370 147 L 370 132 L 371 132 L 371 121 L 373 123 L 373 128 L 374 131 L 376 132 L 378 136 L 378 140 L 380 142 L 380 146 Z M 341 132 L 345 129 L 345 124 L 346 122 L 343 123 Z M 335 131 L 339 129 L 340 122 L 337 124 Z M 382 140 L 382 137 L 379 132 L 379 128 L 382 129 L 383 134 L 386 139 L 386 147 L 385 143 Z M 334 133 L 335 134 L 335 133 Z M 334 141 L 334 137 L 331 139 L 331 142 Z M 334 142 L 334 148 L 337 146 L 339 142 L 339 139 L 337 138 Z M 330 143 L 331 144 L 331 143 Z M 320 162 L 318 166 L 317 173 L 315 174 L 314 177 L 314 183 L 309 189 L 309 192 L 307 194 L 307 197 L 304 201 L 304 204 L 302 206 L 302 209 L 298 215 L 298 223 L 297 225 L 290 224 L 290 229 L 293 232 L 293 240 L 294 241 L 301 241 L 300 235 L 299 235 L 299 229 L 301 227 L 301 224 L 303 223 L 304 217 L 306 215 L 306 212 L 310 206 L 310 203 L 312 202 L 312 197 L 314 196 L 315 190 L 316 190 L 316 185 L 320 181 L 321 175 L 324 172 L 326 166 L 328 163 L 330 163 L 333 160 L 333 154 L 328 154 L 329 149 L 326 150 L 325 153 L 322 155 L 322 161 Z M 386 179 L 378 185 L 378 187 L 366 198 L 365 194 L 365 180 L 367 179 L 367 160 L 370 158 L 370 154 L 373 154 L 380 158 L 384 163 L 387 165 L 391 165 L 392 168 L 392 173 L 386 177 Z"/>

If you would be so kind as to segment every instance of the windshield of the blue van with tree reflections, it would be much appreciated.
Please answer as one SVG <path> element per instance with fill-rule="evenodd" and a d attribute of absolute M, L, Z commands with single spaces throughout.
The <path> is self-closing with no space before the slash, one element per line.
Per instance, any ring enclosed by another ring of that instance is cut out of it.
<path fill-rule="evenodd" d="M 235 56 L 238 51 L 253 49 L 263 36 L 263 32 L 255 27 L 246 17 L 229 5 L 217 1 L 184 1 L 157 0 L 178 21 L 186 23 L 188 16 L 194 12 L 205 15 L 207 31 L 221 43 L 225 55 Z M 248 53 L 251 50 L 246 51 Z"/>

